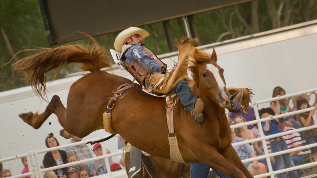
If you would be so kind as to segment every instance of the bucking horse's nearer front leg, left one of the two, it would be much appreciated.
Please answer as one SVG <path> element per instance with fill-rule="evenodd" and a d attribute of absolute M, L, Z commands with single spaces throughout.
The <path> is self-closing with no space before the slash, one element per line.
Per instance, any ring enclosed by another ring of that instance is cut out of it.
<path fill-rule="evenodd" d="M 247 176 L 240 169 L 236 168 L 233 164 L 231 164 L 231 162 L 229 162 L 226 158 L 220 155 L 215 147 L 212 147 L 204 143 L 198 145 L 200 145 L 199 149 L 197 149 L 196 146 L 194 153 L 197 156 L 199 162 L 208 164 L 209 166 L 223 172 L 226 175 L 229 175 L 232 178 L 247 178 Z M 239 159 L 238 155 L 234 156 L 237 156 L 237 158 Z M 248 175 L 248 178 L 250 177 L 253 176 Z"/>

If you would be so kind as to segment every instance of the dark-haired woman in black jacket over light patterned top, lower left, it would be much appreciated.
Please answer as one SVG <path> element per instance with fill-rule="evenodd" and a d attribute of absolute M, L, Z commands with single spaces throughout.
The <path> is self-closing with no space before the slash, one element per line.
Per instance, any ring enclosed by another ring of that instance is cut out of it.
<path fill-rule="evenodd" d="M 59 146 L 59 143 L 57 139 L 54 136 L 52 136 L 52 137 L 45 138 L 45 145 L 47 148 L 53 148 L 53 147 Z M 53 150 L 53 151 L 47 152 L 44 155 L 44 159 L 43 159 L 44 168 L 59 166 L 66 163 L 68 163 L 67 155 L 66 155 L 66 152 L 63 150 L 60 150 L 60 149 Z M 58 178 L 60 177 L 67 178 L 67 174 L 68 174 L 67 170 L 68 170 L 67 168 L 60 168 L 53 171 L 55 172 L 55 175 L 57 175 Z"/>

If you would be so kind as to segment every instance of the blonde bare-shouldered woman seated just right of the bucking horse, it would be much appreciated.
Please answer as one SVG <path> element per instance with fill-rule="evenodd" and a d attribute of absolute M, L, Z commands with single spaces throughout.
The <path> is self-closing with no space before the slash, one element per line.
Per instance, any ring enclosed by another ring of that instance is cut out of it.
<path fill-rule="evenodd" d="M 245 123 L 246 120 L 243 117 L 238 117 L 233 120 L 234 124 Z M 234 129 L 236 137 L 242 138 L 243 140 L 251 140 L 254 139 L 254 135 L 252 130 L 248 129 L 247 126 L 242 126 Z M 256 152 L 261 153 L 262 150 L 259 149 L 257 142 L 251 143 Z"/>

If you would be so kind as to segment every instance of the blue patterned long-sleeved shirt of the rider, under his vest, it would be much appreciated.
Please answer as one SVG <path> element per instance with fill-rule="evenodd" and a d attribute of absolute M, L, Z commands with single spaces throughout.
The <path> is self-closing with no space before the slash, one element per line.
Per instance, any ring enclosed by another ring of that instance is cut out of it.
<path fill-rule="evenodd" d="M 138 62 L 144 69 L 147 69 L 150 73 L 161 72 L 162 68 L 159 64 L 149 55 L 146 54 L 143 47 L 138 44 L 129 44 L 132 47 L 129 48 L 126 53 L 126 63 L 130 64 L 133 60 Z"/>

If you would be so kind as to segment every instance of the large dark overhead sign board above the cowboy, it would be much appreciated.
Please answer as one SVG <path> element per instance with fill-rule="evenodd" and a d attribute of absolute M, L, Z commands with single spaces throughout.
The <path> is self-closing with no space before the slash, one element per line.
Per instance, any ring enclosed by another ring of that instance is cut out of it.
<path fill-rule="evenodd" d="M 39 0 L 50 45 L 103 35 L 252 0 Z"/>

